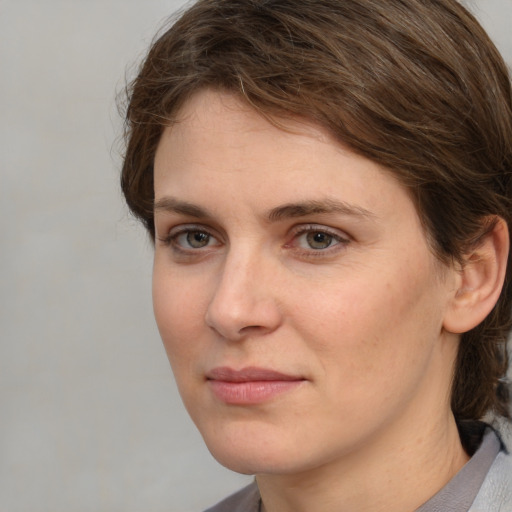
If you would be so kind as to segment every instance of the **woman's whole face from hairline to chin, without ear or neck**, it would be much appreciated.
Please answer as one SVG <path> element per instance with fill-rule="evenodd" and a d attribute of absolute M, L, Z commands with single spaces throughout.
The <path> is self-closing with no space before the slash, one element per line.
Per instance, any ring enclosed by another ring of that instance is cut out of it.
<path fill-rule="evenodd" d="M 324 130 L 283 131 L 229 94 L 180 114 L 155 160 L 153 300 L 214 456 L 292 473 L 419 439 L 449 413 L 455 272 L 405 189 Z"/>

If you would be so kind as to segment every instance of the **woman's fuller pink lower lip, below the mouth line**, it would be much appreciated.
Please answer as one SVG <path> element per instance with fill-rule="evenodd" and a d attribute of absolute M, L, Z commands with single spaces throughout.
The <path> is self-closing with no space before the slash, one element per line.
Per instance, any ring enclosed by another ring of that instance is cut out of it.
<path fill-rule="evenodd" d="M 209 380 L 213 394 L 222 402 L 231 405 L 254 405 L 267 402 L 300 386 L 302 380 L 263 380 L 249 382 L 227 382 Z"/>

